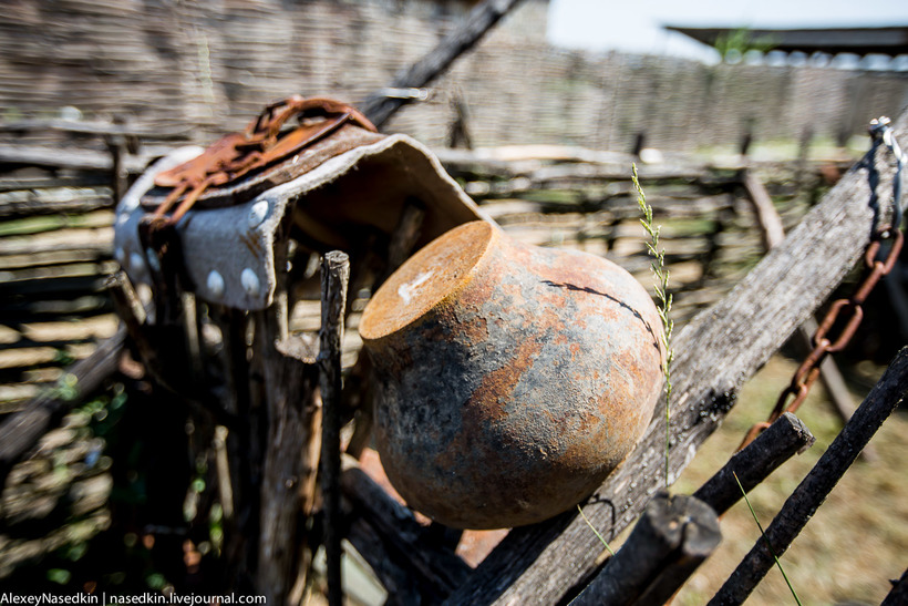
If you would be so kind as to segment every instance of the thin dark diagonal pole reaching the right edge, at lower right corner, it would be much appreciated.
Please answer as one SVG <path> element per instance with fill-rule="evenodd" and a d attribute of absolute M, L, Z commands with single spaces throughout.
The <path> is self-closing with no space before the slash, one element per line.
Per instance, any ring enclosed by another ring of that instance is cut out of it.
<path fill-rule="evenodd" d="M 711 606 L 742 604 L 775 564 L 773 555 L 781 556 L 813 517 L 842 476 L 855 462 L 870 438 L 908 394 L 908 348 L 898 356 L 867 399 L 858 407 L 814 469 L 798 484 L 782 505 L 782 510 L 766 527 L 765 537 L 757 540 L 737 565 Z M 772 545 L 774 554 L 766 543 Z"/>

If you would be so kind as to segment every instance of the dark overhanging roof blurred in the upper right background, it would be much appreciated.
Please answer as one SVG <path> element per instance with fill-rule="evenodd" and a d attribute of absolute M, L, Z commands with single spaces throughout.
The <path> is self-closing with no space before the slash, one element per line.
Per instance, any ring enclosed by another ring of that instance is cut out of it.
<path fill-rule="evenodd" d="M 687 28 L 664 25 L 667 30 L 683 33 L 698 42 L 714 47 L 722 37 L 740 28 Z M 774 51 L 813 54 L 854 53 L 908 54 L 908 25 L 888 28 L 815 28 L 815 29 L 747 29 L 750 40 L 765 42 Z"/>

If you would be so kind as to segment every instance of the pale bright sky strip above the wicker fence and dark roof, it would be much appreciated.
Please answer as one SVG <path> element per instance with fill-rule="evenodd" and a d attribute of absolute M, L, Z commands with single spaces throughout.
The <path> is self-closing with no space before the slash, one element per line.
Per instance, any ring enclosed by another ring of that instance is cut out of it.
<path fill-rule="evenodd" d="M 819 28 L 908 25 L 908 0 L 551 0 L 548 39 L 592 51 L 672 54 L 704 61 L 713 51 L 663 24 Z"/>

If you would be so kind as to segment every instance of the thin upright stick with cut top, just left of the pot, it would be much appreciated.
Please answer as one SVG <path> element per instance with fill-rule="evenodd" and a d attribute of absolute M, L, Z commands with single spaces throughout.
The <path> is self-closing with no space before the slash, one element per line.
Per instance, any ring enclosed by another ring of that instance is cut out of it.
<path fill-rule="evenodd" d="M 341 342 L 343 311 L 347 307 L 347 280 L 350 259 L 344 253 L 332 250 L 321 263 L 321 490 L 324 527 L 324 555 L 328 567 L 328 603 L 341 606 L 341 538 L 343 536 L 340 503 L 340 402 L 341 402 Z"/>

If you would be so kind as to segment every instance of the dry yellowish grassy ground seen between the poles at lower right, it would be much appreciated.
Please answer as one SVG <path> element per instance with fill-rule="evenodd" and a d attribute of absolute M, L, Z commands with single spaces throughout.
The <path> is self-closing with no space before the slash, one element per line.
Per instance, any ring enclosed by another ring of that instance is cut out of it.
<path fill-rule="evenodd" d="M 863 368 L 853 382 L 859 403 L 881 368 Z M 712 475 L 737 448 L 752 423 L 762 421 L 796 369 L 795 361 L 776 356 L 745 386 L 722 428 L 712 435 L 691 466 L 672 487 L 691 493 Z M 861 391 L 863 390 L 863 391 Z M 750 494 L 765 527 L 785 499 L 840 430 L 840 421 L 821 384 L 798 411 L 816 443 L 796 455 Z M 870 442 L 873 461 L 859 459 L 781 558 L 802 604 L 879 604 L 908 566 L 908 477 L 905 435 L 908 411 L 890 417 Z M 741 558 L 760 538 L 743 500 L 722 518 L 723 541 L 675 598 L 675 605 L 702 605 L 719 589 Z M 778 568 L 773 568 L 747 600 L 749 605 L 795 604 Z"/>

